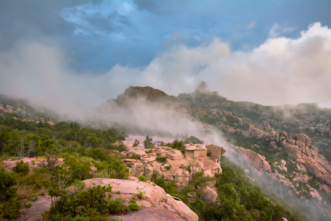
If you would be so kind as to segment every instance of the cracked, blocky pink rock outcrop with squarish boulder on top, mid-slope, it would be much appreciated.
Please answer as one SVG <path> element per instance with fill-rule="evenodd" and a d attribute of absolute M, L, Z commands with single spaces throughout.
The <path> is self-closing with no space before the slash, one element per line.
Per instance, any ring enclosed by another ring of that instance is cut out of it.
<path fill-rule="evenodd" d="M 145 150 L 147 149 L 142 147 L 128 147 L 121 154 L 128 157 L 132 153 Z M 123 159 L 122 161 L 129 167 L 131 176 L 143 175 L 150 180 L 155 173 L 158 178 L 164 176 L 167 181 L 173 180 L 177 187 L 184 187 L 193 178 L 195 172 L 203 171 L 205 176 L 212 177 L 215 173 L 222 173 L 219 160 L 226 152 L 224 147 L 184 144 L 184 150 L 185 152 L 182 153 L 180 150 L 167 146 L 156 146 L 152 153 L 148 153 L 138 160 Z M 164 162 L 160 161 L 162 157 L 166 157 Z"/>

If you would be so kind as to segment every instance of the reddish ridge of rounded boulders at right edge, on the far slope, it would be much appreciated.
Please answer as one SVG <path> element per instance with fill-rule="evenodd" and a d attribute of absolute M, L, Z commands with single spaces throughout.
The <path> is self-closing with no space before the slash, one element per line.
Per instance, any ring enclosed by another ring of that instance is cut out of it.
<path fill-rule="evenodd" d="M 297 163 L 298 169 L 312 174 L 331 186 L 331 166 L 316 147 L 310 144 L 310 138 L 303 134 L 287 134 L 285 131 L 270 136 L 270 140 L 280 142 L 282 149 Z"/>

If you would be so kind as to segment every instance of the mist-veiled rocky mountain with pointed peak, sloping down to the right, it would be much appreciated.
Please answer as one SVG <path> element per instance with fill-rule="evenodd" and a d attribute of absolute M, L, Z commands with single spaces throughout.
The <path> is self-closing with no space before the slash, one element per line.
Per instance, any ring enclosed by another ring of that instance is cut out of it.
<path fill-rule="evenodd" d="M 330 205 L 331 109 L 316 103 L 263 106 L 231 101 L 210 92 L 205 82 L 177 97 L 152 87 L 129 87 L 103 105 L 129 108 L 135 102 L 175 111 L 199 122 L 204 131 L 220 132 L 224 142 L 219 144 L 228 150 L 225 155 L 246 169 L 248 176 L 262 183 L 271 177 L 266 185 L 279 185 L 280 194 L 312 201 L 328 213 L 318 204 Z"/>

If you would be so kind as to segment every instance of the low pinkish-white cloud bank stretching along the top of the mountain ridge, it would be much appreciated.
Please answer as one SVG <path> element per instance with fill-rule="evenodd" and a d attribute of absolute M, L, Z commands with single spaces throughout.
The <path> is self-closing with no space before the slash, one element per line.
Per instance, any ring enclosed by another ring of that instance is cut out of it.
<path fill-rule="evenodd" d="M 68 60 L 55 44 L 21 41 L 0 53 L 0 93 L 74 113 L 116 98 L 130 85 L 177 96 L 204 80 L 210 90 L 235 101 L 331 107 L 331 29 L 320 23 L 297 39 L 270 38 L 248 52 L 232 51 L 218 38 L 198 47 L 169 44 L 145 67 L 115 65 L 105 73 L 77 73 Z"/>

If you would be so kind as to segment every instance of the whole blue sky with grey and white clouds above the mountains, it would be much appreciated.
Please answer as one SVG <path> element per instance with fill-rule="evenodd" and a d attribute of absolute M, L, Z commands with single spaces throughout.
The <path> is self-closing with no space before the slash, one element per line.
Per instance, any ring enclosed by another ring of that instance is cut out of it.
<path fill-rule="evenodd" d="M 331 1 L 0 0 L 0 93 L 98 106 L 128 86 L 331 108 Z"/>

